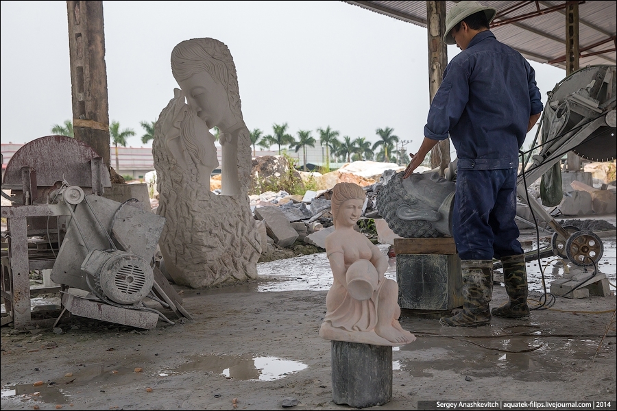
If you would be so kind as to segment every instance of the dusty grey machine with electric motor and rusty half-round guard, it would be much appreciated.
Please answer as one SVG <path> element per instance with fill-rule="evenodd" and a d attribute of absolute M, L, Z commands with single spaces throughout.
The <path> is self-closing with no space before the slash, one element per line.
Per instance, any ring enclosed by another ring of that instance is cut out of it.
<path fill-rule="evenodd" d="M 3 176 L 12 206 L 1 212 L 8 223 L 1 285 L 16 328 L 35 322 L 28 273 L 37 269 L 51 269 L 60 284 L 62 313 L 145 329 L 159 318 L 173 323 L 143 304 L 149 297 L 191 318 L 154 265 L 165 219 L 136 199 L 103 197 L 110 186 L 101 158 L 73 138 L 38 138 L 11 158 Z"/>

